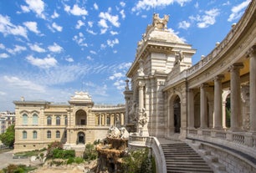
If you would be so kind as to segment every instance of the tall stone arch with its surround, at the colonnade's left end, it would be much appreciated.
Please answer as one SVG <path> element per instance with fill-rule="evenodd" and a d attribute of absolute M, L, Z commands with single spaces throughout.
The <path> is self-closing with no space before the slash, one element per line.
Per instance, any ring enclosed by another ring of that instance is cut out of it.
<path fill-rule="evenodd" d="M 181 94 L 174 92 L 167 101 L 167 137 L 180 133 L 181 128 Z"/>

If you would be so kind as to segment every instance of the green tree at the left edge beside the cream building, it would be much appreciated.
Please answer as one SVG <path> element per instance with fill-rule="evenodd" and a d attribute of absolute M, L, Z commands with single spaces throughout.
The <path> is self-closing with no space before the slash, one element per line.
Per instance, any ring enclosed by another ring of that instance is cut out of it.
<path fill-rule="evenodd" d="M 10 125 L 6 132 L 0 135 L 0 140 L 3 142 L 4 145 L 7 145 L 8 147 L 13 147 L 15 140 L 14 125 Z"/>

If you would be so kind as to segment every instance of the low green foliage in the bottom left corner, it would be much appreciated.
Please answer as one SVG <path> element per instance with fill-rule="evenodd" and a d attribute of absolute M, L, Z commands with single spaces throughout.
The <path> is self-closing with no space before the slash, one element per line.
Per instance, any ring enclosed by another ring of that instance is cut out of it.
<path fill-rule="evenodd" d="M 3 168 L 3 170 L 1 170 L 1 173 L 27 173 L 31 170 L 35 170 L 37 169 L 36 167 L 33 166 L 26 166 L 26 165 L 13 165 L 10 164 L 8 165 L 8 167 Z"/>

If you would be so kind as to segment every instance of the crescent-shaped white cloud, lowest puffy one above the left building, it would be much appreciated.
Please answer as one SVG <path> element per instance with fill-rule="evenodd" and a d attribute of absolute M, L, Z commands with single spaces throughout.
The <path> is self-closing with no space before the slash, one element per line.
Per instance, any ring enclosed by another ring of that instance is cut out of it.
<path fill-rule="evenodd" d="M 57 65 L 57 60 L 49 55 L 44 59 L 33 58 L 32 55 L 29 55 L 26 59 L 30 64 L 38 66 L 38 68 L 42 69 L 49 69 Z"/>

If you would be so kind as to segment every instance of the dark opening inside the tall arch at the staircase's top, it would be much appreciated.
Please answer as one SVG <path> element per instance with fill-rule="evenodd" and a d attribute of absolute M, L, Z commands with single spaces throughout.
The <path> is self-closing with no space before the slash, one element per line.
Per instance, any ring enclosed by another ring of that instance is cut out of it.
<path fill-rule="evenodd" d="M 177 95 L 173 102 L 174 133 L 181 132 L 181 99 Z"/>

